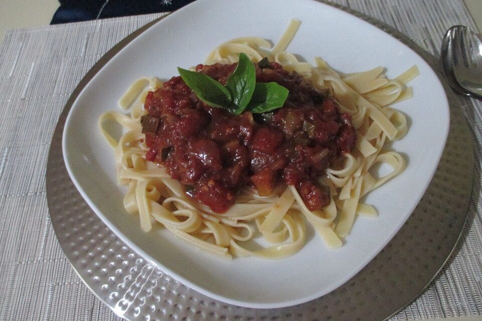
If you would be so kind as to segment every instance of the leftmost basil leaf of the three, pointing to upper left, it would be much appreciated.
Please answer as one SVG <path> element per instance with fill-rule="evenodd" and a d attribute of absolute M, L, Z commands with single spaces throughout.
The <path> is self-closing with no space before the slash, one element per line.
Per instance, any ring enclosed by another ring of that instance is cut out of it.
<path fill-rule="evenodd" d="M 211 77 L 177 67 L 182 80 L 194 93 L 211 107 L 228 108 L 232 104 L 229 91 Z"/>

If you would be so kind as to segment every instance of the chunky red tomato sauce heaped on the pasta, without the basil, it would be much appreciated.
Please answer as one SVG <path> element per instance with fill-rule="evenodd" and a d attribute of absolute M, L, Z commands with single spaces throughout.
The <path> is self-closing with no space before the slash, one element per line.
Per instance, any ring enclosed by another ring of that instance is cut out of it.
<path fill-rule="evenodd" d="M 196 70 L 225 84 L 235 67 L 198 65 Z M 245 186 L 267 196 L 283 182 L 296 187 L 308 209 L 318 210 L 329 203 L 329 191 L 318 179 L 354 147 L 350 115 L 339 112 L 327 91 L 277 63 L 256 66 L 256 81 L 288 88 L 283 108 L 236 116 L 200 101 L 179 76 L 149 92 L 149 114 L 142 118 L 146 158 L 166 167 L 188 195 L 217 213 L 225 212 Z"/>

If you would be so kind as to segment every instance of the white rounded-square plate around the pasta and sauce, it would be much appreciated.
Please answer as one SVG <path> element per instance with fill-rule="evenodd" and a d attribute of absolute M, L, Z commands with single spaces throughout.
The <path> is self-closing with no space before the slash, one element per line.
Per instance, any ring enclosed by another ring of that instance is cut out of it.
<path fill-rule="evenodd" d="M 144 233 L 124 210 L 113 151 L 97 129 L 106 110 L 142 76 L 169 79 L 176 67 L 202 63 L 218 44 L 259 36 L 276 43 L 291 18 L 301 26 L 288 51 L 313 62 L 323 57 L 342 72 L 384 66 L 395 77 L 412 65 L 420 76 L 414 98 L 396 105 L 409 119 L 408 134 L 392 147 L 408 159 L 403 174 L 372 192 L 379 218 L 357 218 L 343 247 L 328 250 L 312 231 L 297 254 L 277 261 L 218 259 L 162 229 Z M 187 286 L 224 302 L 257 308 L 303 303 L 337 288 L 382 250 L 419 202 L 437 167 L 448 132 L 445 92 L 415 52 L 369 23 L 311 0 L 198 0 L 163 19 L 113 57 L 83 89 L 63 134 L 68 173 L 102 221 L 141 255 Z M 396 258 L 394 258 L 396 259 Z"/>

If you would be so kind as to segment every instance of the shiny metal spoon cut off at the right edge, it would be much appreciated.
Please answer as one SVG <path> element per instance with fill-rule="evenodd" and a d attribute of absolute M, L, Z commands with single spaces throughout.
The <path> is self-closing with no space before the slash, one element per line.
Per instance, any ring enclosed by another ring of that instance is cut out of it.
<path fill-rule="evenodd" d="M 440 52 L 445 78 L 457 92 L 482 99 L 482 38 L 465 26 L 445 33 Z"/>

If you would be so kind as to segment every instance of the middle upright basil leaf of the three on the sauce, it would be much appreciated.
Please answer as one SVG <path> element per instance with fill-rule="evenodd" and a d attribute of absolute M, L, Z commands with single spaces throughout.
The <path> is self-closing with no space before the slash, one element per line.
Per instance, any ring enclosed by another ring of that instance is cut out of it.
<path fill-rule="evenodd" d="M 256 84 L 256 68 L 250 58 L 244 53 L 239 54 L 239 61 L 236 69 L 226 81 L 226 88 L 231 93 L 231 112 L 240 115 L 245 111 L 253 96 Z"/>

